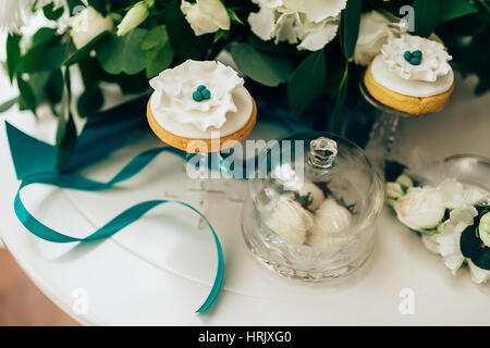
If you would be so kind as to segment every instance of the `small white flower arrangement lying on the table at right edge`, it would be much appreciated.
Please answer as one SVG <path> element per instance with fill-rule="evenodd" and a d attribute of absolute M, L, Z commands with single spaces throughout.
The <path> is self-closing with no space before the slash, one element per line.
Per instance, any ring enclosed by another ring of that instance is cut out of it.
<path fill-rule="evenodd" d="M 418 233 L 453 274 L 466 263 L 475 283 L 490 279 L 490 195 L 454 178 L 414 187 L 407 177 L 387 183 L 387 202 L 399 221 Z"/>

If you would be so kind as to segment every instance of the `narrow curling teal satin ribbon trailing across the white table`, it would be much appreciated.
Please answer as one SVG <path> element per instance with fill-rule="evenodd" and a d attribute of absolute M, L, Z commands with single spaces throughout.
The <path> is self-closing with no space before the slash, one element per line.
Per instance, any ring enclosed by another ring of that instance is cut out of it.
<path fill-rule="evenodd" d="M 117 232 L 121 231 L 125 226 L 132 224 L 136 220 L 138 220 L 140 216 L 143 216 L 146 212 L 149 210 L 164 203 L 176 203 L 184 207 L 189 208 L 194 212 L 196 212 L 208 225 L 209 229 L 212 233 L 216 249 L 218 252 L 218 270 L 215 276 L 215 282 L 211 288 L 211 291 L 209 293 L 206 301 L 203 303 L 203 306 L 196 311 L 196 312 L 205 312 L 209 309 L 209 307 L 215 301 L 216 297 L 218 296 L 222 282 L 223 282 L 223 272 L 224 272 L 224 259 L 223 259 L 223 250 L 221 248 L 221 243 L 218 238 L 218 235 L 216 234 L 215 229 L 212 228 L 209 221 L 206 219 L 205 215 L 203 215 L 197 209 L 194 207 L 176 200 L 149 200 L 145 202 L 140 202 L 138 204 L 135 204 L 127 210 L 123 211 L 121 214 L 112 219 L 109 223 L 107 223 L 101 228 L 97 229 L 93 234 L 90 234 L 88 237 L 85 238 L 75 238 L 71 237 L 64 234 L 61 234 L 59 232 L 56 232 L 54 229 L 49 228 L 41 222 L 39 222 L 36 217 L 34 217 L 27 209 L 24 207 L 24 203 L 21 199 L 21 190 L 32 184 L 46 184 L 46 185 L 52 185 L 61 188 L 68 188 L 68 189 L 75 189 L 75 190 L 84 190 L 84 191 L 100 191 L 108 188 L 113 187 L 114 185 L 124 182 L 136 174 L 138 174 L 143 169 L 145 169 L 158 154 L 162 152 L 171 152 L 174 154 L 177 154 L 180 157 L 185 157 L 185 153 L 182 151 L 179 151 L 174 148 L 166 147 L 166 148 L 157 148 L 151 149 L 142 152 L 140 154 L 136 156 L 130 163 L 127 163 L 118 174 L 115 174 L 109 182 L 97 182 L 93 181 L 83 176 L 78 175 L 72 175 L 72 174 L 63 174 L 59 172 L 45 172 L 45 173 L 34 173 L 30 175 L 27 175 L 22 181 L 21 187 L 19 188 L 19 191 L 15 196 L 14 200 L 14 210 L 15 214 L 17 215 L 21 223 L 34 235 L 38 236 L 39 238 L 42 238 L 48 241 L 53 243 L 73 243 L 73 241 L 94 241 L 99 240 L 103 238 L 108 238 L 115 234 Z"/>

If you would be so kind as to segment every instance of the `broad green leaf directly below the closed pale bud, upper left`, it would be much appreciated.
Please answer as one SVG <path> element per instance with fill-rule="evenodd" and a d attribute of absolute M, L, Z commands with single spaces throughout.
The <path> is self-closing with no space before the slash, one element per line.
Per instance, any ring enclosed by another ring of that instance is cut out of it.
<path fill-rule="evenodd" d="M 110 34 L 97 45 L 97 59 L 102 69 L 112 75 L 134 75 L 145 69 L 145 52 L 142 42 L 148 30 L 135 28 L 119 37 Z"/>

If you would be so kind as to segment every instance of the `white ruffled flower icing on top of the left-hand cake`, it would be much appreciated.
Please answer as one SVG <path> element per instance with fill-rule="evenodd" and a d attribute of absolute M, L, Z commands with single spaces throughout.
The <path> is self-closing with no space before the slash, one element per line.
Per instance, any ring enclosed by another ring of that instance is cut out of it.
<path fill-rule="evenodd" d="M 233 92 L 243 84 L 243 78 L 232 67 L 220 62 L 187 60 L 150 80 L 155 89 L 154 112 L 169 114 L 203 132 L 211 126 L 220 128 L 226 122 L 226 113 L 237 111 Z M 195 101 L 193 92 L 200 85 L 206 86 L 211 98 Z"/>

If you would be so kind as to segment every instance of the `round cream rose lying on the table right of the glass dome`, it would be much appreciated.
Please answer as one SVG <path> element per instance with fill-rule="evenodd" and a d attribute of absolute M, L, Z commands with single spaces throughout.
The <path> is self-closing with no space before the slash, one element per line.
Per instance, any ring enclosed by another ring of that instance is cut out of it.
<path fill-rule="evenodd" d="M 434 187 L 413 187 L 394 202 L 399 220 L 415 231 L 430 229 L 444 217 L 445 207 Z"/>

